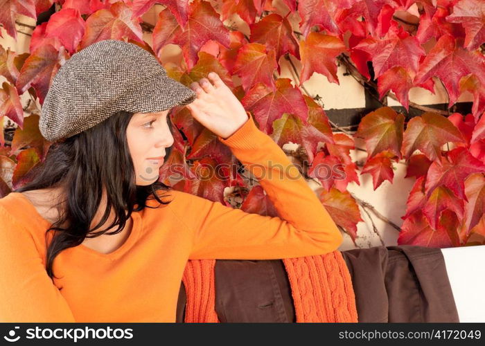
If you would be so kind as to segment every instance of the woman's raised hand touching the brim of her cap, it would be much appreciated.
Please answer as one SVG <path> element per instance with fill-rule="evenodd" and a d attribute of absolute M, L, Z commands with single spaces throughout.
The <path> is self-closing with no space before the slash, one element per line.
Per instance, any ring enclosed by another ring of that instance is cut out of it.
<path fill-rule="evenodd" d="M 249 119 L 241 104 L 215 72 L 191 84 L 197 98 L 186 107 L 192 116 L 215 135 L 228 138 Z"/>

